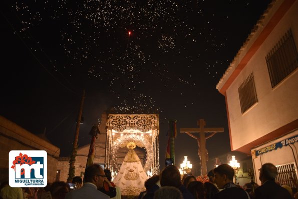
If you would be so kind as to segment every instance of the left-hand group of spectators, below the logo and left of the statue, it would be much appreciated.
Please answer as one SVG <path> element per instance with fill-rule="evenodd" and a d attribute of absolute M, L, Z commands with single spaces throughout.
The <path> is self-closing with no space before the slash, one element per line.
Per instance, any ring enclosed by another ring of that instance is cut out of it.
<path fill-rule="evenodd" d="M 102 198 L 121 199 L 120 188 L 111 182 L 111 171 L 103 170 L 98 164 L 89 166 L 85 171 L 85 182 L 80 176 L 72 183 L 55 181 L 46 187 L 11 187 L 9 182 L 0 186 L 0 199 L 65 199 L 65 198 Z"/>

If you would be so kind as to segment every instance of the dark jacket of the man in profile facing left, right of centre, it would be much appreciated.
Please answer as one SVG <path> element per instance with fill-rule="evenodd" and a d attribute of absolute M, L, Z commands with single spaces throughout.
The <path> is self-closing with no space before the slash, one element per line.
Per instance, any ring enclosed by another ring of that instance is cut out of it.
<path fill-rule="evenodd" d="M 223 190 L 215 194 L 214 199 L 250 199 L 248 193 L 234 183 L 227 183 L 224 185 Z"/>

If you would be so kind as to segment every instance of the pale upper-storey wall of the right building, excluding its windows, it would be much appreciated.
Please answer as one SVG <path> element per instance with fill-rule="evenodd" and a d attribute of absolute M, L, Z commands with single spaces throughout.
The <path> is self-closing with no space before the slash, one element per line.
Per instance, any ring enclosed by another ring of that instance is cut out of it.
<path fill-rule="evenodd" d="M 295 1 L 226 90 L 233 150 L 298 118 L 298 70 L 271 88 L 266 54 L 291 28 L 298 47 L 298 2 Z M 258 102 L 243 114 L 238 87 L 253 72 Z"/>

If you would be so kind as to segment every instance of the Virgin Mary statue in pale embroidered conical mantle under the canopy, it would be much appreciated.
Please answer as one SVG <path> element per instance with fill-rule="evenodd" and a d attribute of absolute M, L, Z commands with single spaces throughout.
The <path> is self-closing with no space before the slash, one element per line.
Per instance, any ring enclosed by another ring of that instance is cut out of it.
<path fill-rule="evenodd" d="M 126 146 L 129 150 L 113 182 L 121 188 L 122 195 L 139 195 L 145 190 L 144 182 L 148 176 L 143 169 L 140 158 L 134 151 L 136 144 L 131 141 Z"/>

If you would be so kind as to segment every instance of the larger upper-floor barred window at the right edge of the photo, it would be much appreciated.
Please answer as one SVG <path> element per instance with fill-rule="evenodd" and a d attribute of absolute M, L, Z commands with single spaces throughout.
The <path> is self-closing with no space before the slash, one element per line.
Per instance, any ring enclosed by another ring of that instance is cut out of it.
<path fill-rule="evenodd" d="M 290 29 L 266 55 L 266 62 L 272 88 L 298 67 L 298 53 Z"/>

